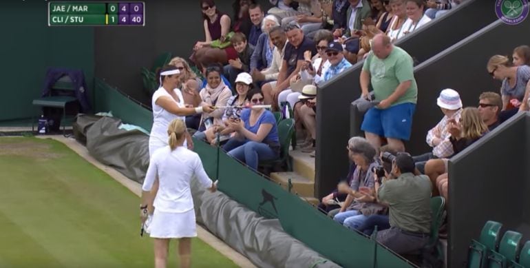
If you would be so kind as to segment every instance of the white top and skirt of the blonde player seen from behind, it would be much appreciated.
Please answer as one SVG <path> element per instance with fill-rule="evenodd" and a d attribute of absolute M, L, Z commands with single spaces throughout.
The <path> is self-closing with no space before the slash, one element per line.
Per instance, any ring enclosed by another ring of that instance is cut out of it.
<path fill-rule="evenodd" d="M 169 145 L 162 147 L 151 156 L 144 191 L 151 191 L 157 174 L 160 185 L 154 201 L 156 209 L 147 232 L 153 238 L 197 236 L 191 179 L 197 178 L 205 188 L 212 184 L 199 155 L 182 146 L 173 151 Z"/>

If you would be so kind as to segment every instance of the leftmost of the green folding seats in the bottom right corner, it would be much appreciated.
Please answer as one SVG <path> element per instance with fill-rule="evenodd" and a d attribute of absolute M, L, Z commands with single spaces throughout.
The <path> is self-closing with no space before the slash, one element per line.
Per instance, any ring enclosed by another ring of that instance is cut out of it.
<path fill-rule="evenodd" d="M 482 231 L 480 238 L 471 240 L 467 254 L 467 267 L 483 268 L 487 267 L 489 251 L 497 249 L 499 232 L 502 224 L 493 220 L 487 221 Z"/>

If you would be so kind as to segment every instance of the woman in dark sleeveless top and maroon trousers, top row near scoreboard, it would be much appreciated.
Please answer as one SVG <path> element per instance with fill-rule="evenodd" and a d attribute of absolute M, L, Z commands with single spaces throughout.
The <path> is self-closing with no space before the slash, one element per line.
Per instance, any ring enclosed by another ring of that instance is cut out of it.
<path fill-rule="evenodd" d="M 225 40 L 230 32 L 231 19 L 228 15 L 222 14 L 216 7 L 213 0 L 201 0 L 202 18 L 204 19 L 204 41 L 198 41 L 193 46 L 191 59 L 198 68 L 208 66 L 210 63 L 228 63 L 229 59 L 236 59 L 237 52 L 233 46 L 227 48 L 213 48 L 212 41 Z"/>

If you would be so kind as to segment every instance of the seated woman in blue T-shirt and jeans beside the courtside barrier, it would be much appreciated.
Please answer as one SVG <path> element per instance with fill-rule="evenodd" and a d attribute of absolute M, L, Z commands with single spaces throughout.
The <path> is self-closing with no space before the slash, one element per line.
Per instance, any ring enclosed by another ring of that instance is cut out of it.
<path fill-rule="evenodd" d="M 248 92 L 247 99 L 251 105 L 262 105 L 264 100 L 258 89 Z M 276 118 L 271 111 L 252 107 L 244 109 L 240 119 L 229 120 L 228 125 L 236 132 L 223 146 L 229 156 L 246 163 L 252 169 L 257 169 L 259 161 L 279 157 Z"/>

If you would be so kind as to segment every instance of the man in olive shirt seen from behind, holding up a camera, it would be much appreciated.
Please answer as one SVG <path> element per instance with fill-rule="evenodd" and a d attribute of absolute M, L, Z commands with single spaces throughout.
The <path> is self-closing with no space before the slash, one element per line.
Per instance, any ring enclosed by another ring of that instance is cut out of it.
<path fill-rule="evenodd" d="M 383 157 L 392 162 L 390 179 L 375 182 L 376 196 L 390 208 L 390 229 L 380 231 L 377 241 L 396 254 L 423 248 L 430 237 L 432 185 L 425 175 L 414 176 L 414 161 L 406 153 Z"/>

